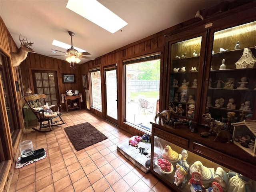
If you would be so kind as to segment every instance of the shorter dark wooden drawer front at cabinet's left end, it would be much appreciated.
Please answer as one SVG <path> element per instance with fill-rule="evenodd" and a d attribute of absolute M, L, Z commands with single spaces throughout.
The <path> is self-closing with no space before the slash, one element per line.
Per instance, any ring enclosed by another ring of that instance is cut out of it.
<path fill-rule="evenodd" d="M 160 130 L 158 128 L 154 128 L 154 134 L 159 135 L 159 136 L 161 136 L 161 138 L 163 138 L 165 140 L 168 140 L 171 143 L 176 144 L 180 147 L 183 147 L 183 148 L 186 148 L 186 149 L 188 148 L 188 143 L 189 143 L 188 139 L 185 139 L 185 138 L 182 138 L 180 136 L 168 133 L 168 132 Z"/>

